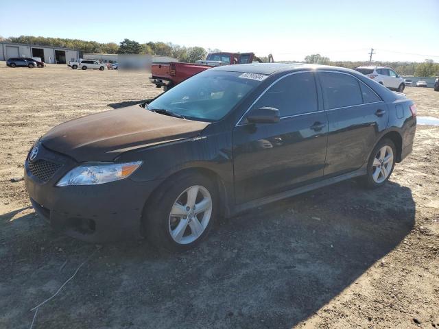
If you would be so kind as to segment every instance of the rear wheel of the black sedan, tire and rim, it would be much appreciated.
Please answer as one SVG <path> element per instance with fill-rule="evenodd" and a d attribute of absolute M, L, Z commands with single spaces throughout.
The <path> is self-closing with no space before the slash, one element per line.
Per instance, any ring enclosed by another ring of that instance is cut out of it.
<path fill-rule="evenodd" d="M 392 154 L 390 155 L 390 152 Z M 391 160 L 385 162 L 385 158 Z M 361 182 L 368 188 L 377 188 L 387 182 L 395 167 L 396 147 L 394 143 L 384 138 L 374 147 L 368 160 L 367 173 L 361 178 Z M 384 160 L 384 161 L 383 161 Z M 383 169 L 380 169 L 383 168 Z"/>

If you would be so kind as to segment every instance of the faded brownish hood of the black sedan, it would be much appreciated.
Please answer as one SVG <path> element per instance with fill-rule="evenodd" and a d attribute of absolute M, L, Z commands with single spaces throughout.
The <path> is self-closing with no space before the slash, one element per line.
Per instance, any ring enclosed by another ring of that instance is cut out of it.
<path fill-rule="evenodd" d="M 79 162 L 112 161 L 125 151 L 197 136 L 207 125 L 135 105 L 61 123 L 41 143 Z"/>

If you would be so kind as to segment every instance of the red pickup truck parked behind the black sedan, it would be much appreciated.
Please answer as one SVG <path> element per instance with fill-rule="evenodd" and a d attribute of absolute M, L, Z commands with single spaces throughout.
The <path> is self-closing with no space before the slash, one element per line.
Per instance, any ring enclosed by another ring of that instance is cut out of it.
<path fill-rule="evenodd" d="M 268 56 L 269 61 L 273 61 L 273 56 Z M 163 86 L 163 90 L 168 90 L 176 86 L 188 77 L 211 69 L 213 66 L 229 64 L 247 64 L 252 62 L 262 62 L 254 53 L 209 53 L 206 60 L 198 60 L 192 63 L 156 63 L 151 66 L 152 77 L 150 81 L 157 88 Z"/>

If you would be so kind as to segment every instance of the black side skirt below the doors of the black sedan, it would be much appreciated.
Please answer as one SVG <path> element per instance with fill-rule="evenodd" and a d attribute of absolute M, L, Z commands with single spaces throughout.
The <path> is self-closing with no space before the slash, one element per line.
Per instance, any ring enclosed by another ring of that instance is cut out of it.
<path fill-rule="evenodd" d="M 339 176 L 335 176 L 335 177 L 331 177 L 331 178 L 326 178 L 324 180 L 321 180 L 320 182 L 315 182 L 315 183 L 308 184 L 305 186 L 300 186 L 298 188 L 293 188 L 292 190 L 289 190 L 289 191 L 285 191 L 285 192 L 278 193 L 275 195 L 270 195 L 269 197 L 261 197 L 260 199 L 255 199 L 255 200 L 246 202 L 244 204 L 239 204 L 231 210 L 230 217 L 235 216 L 235 215 L 239 214 L 239 212 L 243 212 L 243 211 L 251 209 L 251 208 L 262 206 L 264 204 L 270 204 L 271 202 L 276 202 L 278 200 L 285 199 L 287 197 L 294 197 L 294 195 L 299 195 L 299 194 L 302 194 L 305 192 L 313 191 L 313 190 L 316 190 L 317 188 L 332 185 L 332 184 L 335 184 L 338 182 L 342 182 L 344 180 L 349 180 L 351 178 L 359 177 L 361 175 L 366 175 L 366 172 L 367 172 L 366 168 L 367 168 L 367 163 L 364 164 L 361 168 L 359 168 L 355 171 L 351 171 L 350 173 L 344 173 L 343 175 L 339 175 Z"/>

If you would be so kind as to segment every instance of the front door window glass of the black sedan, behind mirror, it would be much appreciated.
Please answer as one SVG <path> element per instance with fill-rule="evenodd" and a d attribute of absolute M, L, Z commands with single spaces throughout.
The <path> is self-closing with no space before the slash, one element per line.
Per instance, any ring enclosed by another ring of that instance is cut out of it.
<path fill-rule="evenodd" d="M 277 108 L 281 117 L 318 110 L 316 80 L 313 73 L 296 73 L 274 84 L 253 108 Z"/>

